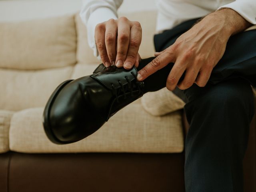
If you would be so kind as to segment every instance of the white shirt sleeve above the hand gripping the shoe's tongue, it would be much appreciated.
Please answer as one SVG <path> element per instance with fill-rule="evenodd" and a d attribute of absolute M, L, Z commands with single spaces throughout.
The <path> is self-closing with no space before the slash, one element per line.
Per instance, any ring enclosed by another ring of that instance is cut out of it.
<path fill-rule="evenodd" d="M 117 19 L 117 10 L 123 0 L 82 0 L 80 17 L 87 28 L 87 38 L 90 48 L 100 60 L 94 39 L 94 30 L 97 24 L 111 18 Z"/>

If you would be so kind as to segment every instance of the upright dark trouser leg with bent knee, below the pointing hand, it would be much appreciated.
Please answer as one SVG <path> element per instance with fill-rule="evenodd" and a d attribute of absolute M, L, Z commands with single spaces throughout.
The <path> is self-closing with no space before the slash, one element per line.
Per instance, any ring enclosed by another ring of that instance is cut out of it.
<path fill-rule="evenodd" d="M 186 192 L 242 192 L 242 160 L 254 114 L 250 84 L 224 80 L 184 91 L 190 129 L 185 142 Z"/>

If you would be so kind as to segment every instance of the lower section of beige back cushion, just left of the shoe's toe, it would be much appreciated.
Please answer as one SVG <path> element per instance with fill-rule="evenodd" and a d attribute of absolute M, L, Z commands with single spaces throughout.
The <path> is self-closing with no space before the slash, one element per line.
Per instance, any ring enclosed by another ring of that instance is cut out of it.
<path fill-rule="evenodd" d="M 73 67 L 21 71 L 0 69 L 0 109 L 22 110 L 45 106 L 54 89 L 70 78 Z"/>

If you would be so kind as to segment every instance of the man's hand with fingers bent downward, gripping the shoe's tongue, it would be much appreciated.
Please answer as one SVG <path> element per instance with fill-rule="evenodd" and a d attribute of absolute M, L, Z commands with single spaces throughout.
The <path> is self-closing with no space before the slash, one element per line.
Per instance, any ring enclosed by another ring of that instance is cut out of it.
<path fill-rule="evenodd" d="M 95 27 L 96 46 L 103 64 L 130 69 L 138 67 L 140 55 L 138 50 L 142 38 L 139 22 L 126 17 L 110 19 Z"/>

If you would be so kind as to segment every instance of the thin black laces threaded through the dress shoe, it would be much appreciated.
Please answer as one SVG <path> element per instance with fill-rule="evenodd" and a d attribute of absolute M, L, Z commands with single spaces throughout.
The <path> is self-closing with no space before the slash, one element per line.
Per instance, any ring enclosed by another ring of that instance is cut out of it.
<path fill-rule="evenodd" d="M 129 79 L 125 76 L 124 78 L 126 79 L 126 81 L 128 82 L 128 84 L 126 85 L 123 85 L 120 81 L 118 81 L 119 85 L 120 85 L 120 88 L 122 90 L 122 93 L 123 94 L 120 94 L 120 92 L 118 92 L 118 90 L 120 90 L 120 88 L 114 88 L 114 85 L 111 84 L 112 86 L 112 93 L 116 96 L 116 101 L 119 103 L 119 100 L 118 100 L 118 96 L 124 96 L 124 99 L 126 99 L 126 92 L 127 92 L 127 89 L 130 89 L 130 93 L 131 93 L 131 97 L 132 97 L 132 92 L 133 92 L 133 84 L 135 83 L 136 87 L 138 88 L 139 92 L 138 94 L 140 94 L 142 92 L 141 90 L 141 87 L 140 87 L 140 82 L 137 82 L 136 81 L 136 75 L 131 72 L 131 74 L 134 76 L 134 81 L 135 82 L 132 82 L 132 81 L 129 81 Z"/>

